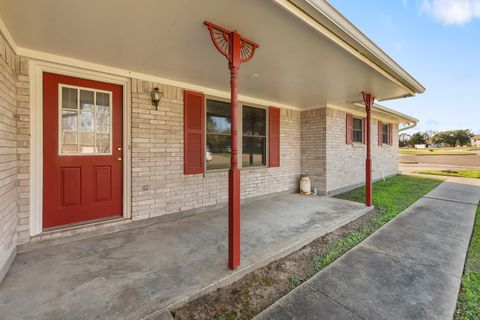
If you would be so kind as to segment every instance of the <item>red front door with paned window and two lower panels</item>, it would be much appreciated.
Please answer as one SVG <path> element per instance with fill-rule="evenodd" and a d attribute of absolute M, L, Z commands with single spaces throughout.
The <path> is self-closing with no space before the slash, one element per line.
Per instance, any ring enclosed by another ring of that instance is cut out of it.
<path fill-rule="evenodd" d="M 43 227 L 122 216 L 122 86 L 43 74 Z"/>

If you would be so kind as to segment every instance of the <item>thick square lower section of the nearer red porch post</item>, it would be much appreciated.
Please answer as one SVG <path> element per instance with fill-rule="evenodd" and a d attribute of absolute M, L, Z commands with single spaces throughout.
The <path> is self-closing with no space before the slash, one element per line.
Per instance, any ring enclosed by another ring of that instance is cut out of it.
<path fill-rule="evenodd" d="M 240 170 L 228 171 L 228 267 L 240 265 Z"/>

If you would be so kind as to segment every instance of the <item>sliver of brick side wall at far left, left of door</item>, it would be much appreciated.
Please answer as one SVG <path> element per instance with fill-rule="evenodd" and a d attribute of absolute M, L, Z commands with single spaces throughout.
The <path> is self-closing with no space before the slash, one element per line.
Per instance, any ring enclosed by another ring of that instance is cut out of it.
<path fill-rule="evenodd" d="M 16 246 L 17 125 L 15 55 L 0 34 L 0 280 Z"/>

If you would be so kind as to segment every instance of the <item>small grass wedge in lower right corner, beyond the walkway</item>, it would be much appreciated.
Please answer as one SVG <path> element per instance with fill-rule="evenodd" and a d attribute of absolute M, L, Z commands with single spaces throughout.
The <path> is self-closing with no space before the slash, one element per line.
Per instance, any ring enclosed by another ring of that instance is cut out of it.
<path fill-rule="evenodd" d="M 468 248 L 455 319 L 480 319 L 480 205 Z"/>

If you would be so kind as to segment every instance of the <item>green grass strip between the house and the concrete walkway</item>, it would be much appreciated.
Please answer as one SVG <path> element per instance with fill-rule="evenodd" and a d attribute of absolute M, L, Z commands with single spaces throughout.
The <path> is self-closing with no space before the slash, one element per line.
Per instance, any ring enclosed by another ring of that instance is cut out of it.
<path fill-rule="evenodd" d="M 363 226 L 358 231 L 334 242 L 325 254 L 313 257 L 314 268 L 321 270 L 329 265 L 422 196 L 436 188 L 442 181 L 440 179 L 396 175 L 385 179 L 385 181 L 375 182 L 373 184 L 373 205 L 380 211 L 380 215 L 371 217 L 369 225 Z M 336 197 L 365 203 L 365 187 L 354 189 Z"/>

